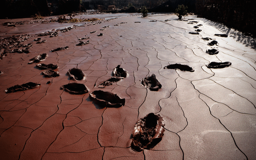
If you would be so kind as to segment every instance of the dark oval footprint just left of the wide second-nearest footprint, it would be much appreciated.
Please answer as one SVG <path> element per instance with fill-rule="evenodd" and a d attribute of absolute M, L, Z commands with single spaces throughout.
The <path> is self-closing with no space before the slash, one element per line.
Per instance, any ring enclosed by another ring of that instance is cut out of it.
<path fill-rule="evenodd" d="M 79 84 L 76 82 L 62 85 L 60 89 L 65 89 L 65 91 L 71 94 L 84 94 L 89 92 L 88 88 L 84 84 Z"/>

